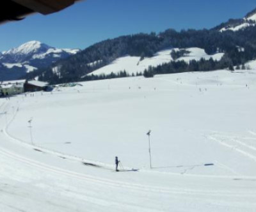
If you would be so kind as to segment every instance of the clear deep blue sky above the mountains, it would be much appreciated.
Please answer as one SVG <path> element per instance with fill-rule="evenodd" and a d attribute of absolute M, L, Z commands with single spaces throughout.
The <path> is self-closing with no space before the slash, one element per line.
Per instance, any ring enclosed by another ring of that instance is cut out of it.
<path fill-rule="evenodd" d="M 209 29 L 254 8 L 255 0 L 87 0 L 52 15 L 0 26 L 0 51 L 30 40 L 84 49 L 125 34 Z"/>

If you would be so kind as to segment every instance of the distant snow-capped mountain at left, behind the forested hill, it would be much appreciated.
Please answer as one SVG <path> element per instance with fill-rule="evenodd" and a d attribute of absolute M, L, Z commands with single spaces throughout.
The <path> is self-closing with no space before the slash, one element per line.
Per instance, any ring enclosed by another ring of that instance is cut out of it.
<path fill-rule="evenodd" d="M 49 66 L 79 51 L 79 49 L 57 49 L 38 41 L 24 43 L 17 48 L 0 52 L 1 80 L 18 79 L 28 72 Z"/>

